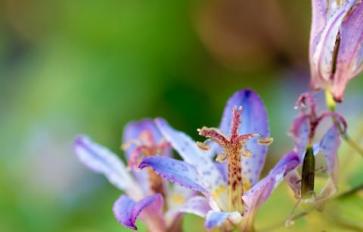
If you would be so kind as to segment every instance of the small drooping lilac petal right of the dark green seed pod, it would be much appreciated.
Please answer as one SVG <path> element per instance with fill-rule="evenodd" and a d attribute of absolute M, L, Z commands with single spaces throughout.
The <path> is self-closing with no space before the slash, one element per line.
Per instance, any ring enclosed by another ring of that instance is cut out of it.
<path fill-rule="evenodd" d="M 331 127 L 320 141 L 320 152 L 324 155 L 328 173 L 334 183 L 337 181 L 337 152 L 340 146 L 340 135 L 338 129 Z"/>

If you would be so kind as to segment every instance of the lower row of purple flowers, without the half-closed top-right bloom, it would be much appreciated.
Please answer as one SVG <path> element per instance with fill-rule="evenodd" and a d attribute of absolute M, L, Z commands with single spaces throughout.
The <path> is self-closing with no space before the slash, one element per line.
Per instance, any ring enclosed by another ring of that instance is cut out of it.
<path fill-rule="evenodd" d="M 192 213 L 205 218 L 207 229 L 223 226 L 249 231 L 257 209 L 284 178 L 296 196 L 302 197 L 296 170 L 306 148 L 312 146 L 311 130 L 316 129 L 312 125 L 329 115 L 317 117 L 315 103 L 307 104 L 307 99 L 312 101 L 310 95 L 301 98 L 300 104 L 306 106 L 293 124 L 295 149 L 283 155 L 263 178 L 260 174 L 272 140 L 263 102 L 249 89 L 236 92 L 228 100 L 218 128 L 199 129 L 200 135 L 209 138 L 203 144 L 157 118 L 127 125 L 123 148 L 129 168 L 110 150 L 85 136 L 76 139 L 75 150 L 86 166 L 125 192 L 113 211 L 129 228 L 136 229 L 140 216 L 150 231 L 169 231 L 180 226 L 182 213 Z M 306 107 L 311 109 L 305 111 Z M 333 126 L 314 146 L 316 153 L 320 149 L 326 157 L 333 183 L 338 140 Z M 182 160 L 172 158 L 171 148 Z"/>

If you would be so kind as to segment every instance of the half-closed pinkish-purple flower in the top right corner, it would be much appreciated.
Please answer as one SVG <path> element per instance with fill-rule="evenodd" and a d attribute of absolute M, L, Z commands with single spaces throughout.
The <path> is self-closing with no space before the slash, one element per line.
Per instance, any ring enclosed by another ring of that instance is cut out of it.
<path fill-rule="evenodd" d="M 348 81 L 363 70 L 363 1 L 312 0 L 311 84 L 342 101 Z"/>

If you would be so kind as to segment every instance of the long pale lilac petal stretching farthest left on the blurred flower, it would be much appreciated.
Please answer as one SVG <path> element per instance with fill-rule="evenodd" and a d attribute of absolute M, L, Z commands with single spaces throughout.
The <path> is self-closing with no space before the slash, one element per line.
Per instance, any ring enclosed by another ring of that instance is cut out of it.
<path fill-rule="evenodd" d="M 104 174 L 117 188 L 140 196 L 140 190 L 125 165 L 106 147 L 93 142 L 86 136 L 79 136 L 74 149 L 81 162 L 95 172 Z"/>

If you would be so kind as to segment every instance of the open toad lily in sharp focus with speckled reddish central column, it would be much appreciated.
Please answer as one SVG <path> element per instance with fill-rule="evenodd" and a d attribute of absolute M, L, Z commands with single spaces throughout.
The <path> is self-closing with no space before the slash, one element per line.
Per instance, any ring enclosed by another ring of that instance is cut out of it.
<path fill-rule="evenodd" d="M 241 109 L 243 107 L 243 110 Z M 228 101 L 219 129 L 203 127 L 199 134 L 209 138 L 197 145 L 190 137 L 168 125 L 156 124 L 184 161 L 147 157 L 140 168 L 152 167 L 165 179 L 201 194 L 194 205 L 181 209 L 206 218 L 208 229 L 252 230 L 257 208 L 270 196 L 283 177 L 299 163 L 295 152 L 285 155 L 269 174 L 259 180 L 271 141 L 267 113 L 261 99 L 251 90 L 241 90 Z M 206 151 L 210 146 L 209 151 Z M 203 148 L 203 149 L 201 149 Z M 210 153 L 223 152 L 214 162 Z"/>

